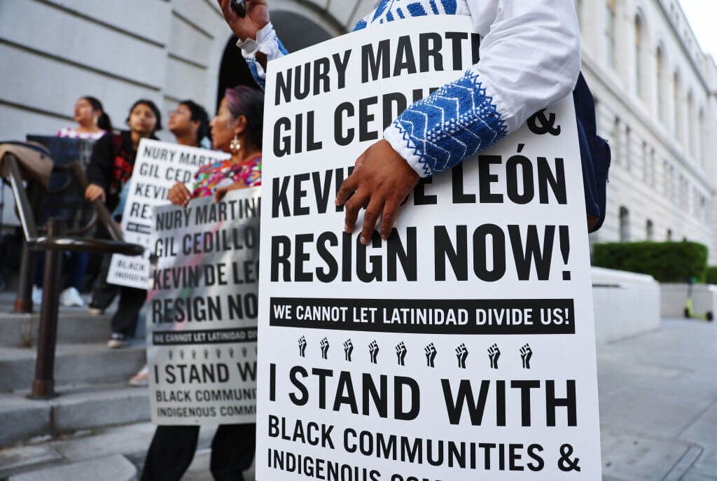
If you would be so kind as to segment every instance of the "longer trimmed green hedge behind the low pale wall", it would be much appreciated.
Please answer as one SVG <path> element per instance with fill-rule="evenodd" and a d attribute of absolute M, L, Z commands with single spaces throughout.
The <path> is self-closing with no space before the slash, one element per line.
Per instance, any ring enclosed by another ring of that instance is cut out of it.
<path fill-rule="evenodd" d="M 685 282 L 690 277 L 704 282 L 707 247 L 685 241 L 595 244 L 592 265 L 649 274 L 658 282 Z"/>

